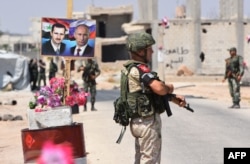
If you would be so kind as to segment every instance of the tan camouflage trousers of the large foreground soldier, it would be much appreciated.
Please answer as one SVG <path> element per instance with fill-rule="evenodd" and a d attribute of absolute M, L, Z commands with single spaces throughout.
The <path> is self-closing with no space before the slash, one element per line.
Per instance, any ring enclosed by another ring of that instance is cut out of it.
<path fill-rule="evenodd" d="M 159 114 L 131 120 L 130 130 L 135 137 L 135 164 L 160 164 L 161 126 Z"/>

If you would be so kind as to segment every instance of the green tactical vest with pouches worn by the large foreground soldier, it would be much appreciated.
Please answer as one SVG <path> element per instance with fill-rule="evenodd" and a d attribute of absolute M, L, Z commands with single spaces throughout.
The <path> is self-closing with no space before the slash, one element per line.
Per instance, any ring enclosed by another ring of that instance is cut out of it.
<path fill-rule="evenodd" d="M 131 68 L 138 64 L 140 63 L 130 61 L 124 65 L 125 69 L 121 71 L 121 92 L 120 97 L 114 101 L 113 120 L 122 125 L 123 129 L 116 143 L 121 142 L 131 118 L 148 117 L 154 115 L 155 112 L 162 113 L 165 111 L 163 99 L 149 88 L 143 89 L 142 87 L 142 90 L 137 92 L 129 92 L 129 80 L 133 80 L 140 85 L 140 82 L 130 75 Z"/>

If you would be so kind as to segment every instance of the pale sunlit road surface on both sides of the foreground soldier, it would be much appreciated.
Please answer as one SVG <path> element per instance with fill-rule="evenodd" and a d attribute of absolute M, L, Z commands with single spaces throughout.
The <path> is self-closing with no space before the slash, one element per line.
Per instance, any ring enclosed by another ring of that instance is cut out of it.
<path fill-rule="evenodd" d="M 112 120 L 113 100 L 118 91 L 98 91 L 97 112 L 81 112 L 88 164 L 132 164 L 134 139 L 130 130 L 120 144 L 121 127 Z M 191 113 L 171 104 L 173 116 L 162 114 L 162 163 L 222 164 L 224 147 L 250 147 L 250 108 L 228 109 L 226 104 L 199 97 L 186 97 Z M 89 105 L 89 104 L 88 104 Z"/>

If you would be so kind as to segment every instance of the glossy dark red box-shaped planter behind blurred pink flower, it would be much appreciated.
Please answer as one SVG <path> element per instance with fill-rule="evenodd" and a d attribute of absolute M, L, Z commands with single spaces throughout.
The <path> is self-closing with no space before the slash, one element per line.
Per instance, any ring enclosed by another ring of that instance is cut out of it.
<path fill-rule="evenodd" d="M 82 123 L 37 130 L 22 129 L 21 139 L 24 163 L 35 163 L 46 141 L 55 144 L 69 143 L 73 148 L 75 164 L 87 163 Z"/>

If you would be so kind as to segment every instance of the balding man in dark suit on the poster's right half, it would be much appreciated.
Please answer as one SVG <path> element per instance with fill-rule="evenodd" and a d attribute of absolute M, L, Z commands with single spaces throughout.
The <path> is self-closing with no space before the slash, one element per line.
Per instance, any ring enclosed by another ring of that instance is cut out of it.
<path fill-rule="evenodd" d="M 84 24 L 76 27 L 74 32 L 76 46 L 70 48 L 73 56 L 94 57 L 94 48 L 88 45 L 89 28 Z"/>

